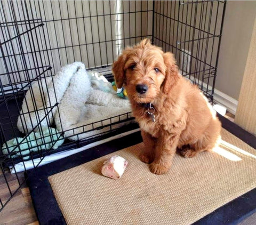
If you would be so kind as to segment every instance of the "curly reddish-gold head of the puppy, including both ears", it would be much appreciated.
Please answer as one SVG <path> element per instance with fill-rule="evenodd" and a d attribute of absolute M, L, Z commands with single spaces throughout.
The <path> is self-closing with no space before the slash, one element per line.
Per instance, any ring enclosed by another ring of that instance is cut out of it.
<path fill-rule="evenodd" d="M 173 54 L 143 39 L 127 47 L 113 63 L 116 85 L 123 85 L 130 100 L 138 103 L 153 102 L 159 94 L 169 94 L 178 78 L 178 67 Z"/>

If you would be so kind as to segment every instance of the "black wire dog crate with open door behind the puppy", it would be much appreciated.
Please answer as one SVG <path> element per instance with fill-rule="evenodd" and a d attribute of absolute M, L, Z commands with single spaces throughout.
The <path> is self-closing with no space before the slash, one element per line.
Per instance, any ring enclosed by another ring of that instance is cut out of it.
<path fill-rule="evenodd" d="M 49 153 L 81 147 L 138 127 L 131 123 L 133 117 L 127 111 L 63 128 L 59 81 L 55 79 L 63 66 L 83 62 L 87 72 L 97 72 L 112 82 L 111 64 L 122 50 L 150 38 L 164 51 L 173 52 L 180 73 L 213 101 L 225 1 L 0 4 L 1 210 L 25 181 L 15 164 L 23 164 L 26 170 L 25 162 L 30 160 L 37 167 Z M 56 114 L 60 117 L 60 131 L 48 128 L 44 133 L 44 126 L 56 127 Z M 68 135 L 64 137 L 65 133 Z M 5 144 L 9 140 L 12 144 Z M 58 142 L 62 144 L 55 148 Z"/>

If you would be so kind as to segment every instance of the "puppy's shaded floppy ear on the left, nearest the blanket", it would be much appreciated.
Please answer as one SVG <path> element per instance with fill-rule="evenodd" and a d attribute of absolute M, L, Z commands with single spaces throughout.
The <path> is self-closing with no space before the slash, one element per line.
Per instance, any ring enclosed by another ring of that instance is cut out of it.
<path fill-rule="evenodd" d="M 117 61 L 113 63 L 112 71 L 114 74 L 116 86 L 118 89 L 121 89 L 121 87 L 124 84 L 125 80 L 125 70 L 124 70 L 124 65 L 126 62 L 126 56 L 125 54 L 122 54 L 118 57 Z"/>

